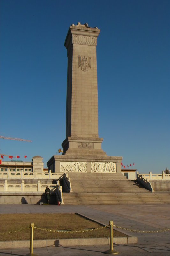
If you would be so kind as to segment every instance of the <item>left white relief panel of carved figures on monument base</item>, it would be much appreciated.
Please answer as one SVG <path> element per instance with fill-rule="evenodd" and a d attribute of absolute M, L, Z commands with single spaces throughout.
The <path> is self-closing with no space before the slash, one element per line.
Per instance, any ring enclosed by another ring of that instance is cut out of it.
<path fill-rule="evenodd" d="M 87 172 L 87 162 L 60 162 L 60 172 Z"/>

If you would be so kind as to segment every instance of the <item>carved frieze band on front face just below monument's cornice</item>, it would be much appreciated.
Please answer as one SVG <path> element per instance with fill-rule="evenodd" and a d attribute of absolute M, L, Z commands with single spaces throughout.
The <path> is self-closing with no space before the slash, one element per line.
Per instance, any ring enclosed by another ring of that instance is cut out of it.
<path fill-rule="evenodd" d="M 84 45 L 97 45 L 96 36 L 82 36 L 82 35 L 72 35 L 73 44 L 84 44 Z"/>

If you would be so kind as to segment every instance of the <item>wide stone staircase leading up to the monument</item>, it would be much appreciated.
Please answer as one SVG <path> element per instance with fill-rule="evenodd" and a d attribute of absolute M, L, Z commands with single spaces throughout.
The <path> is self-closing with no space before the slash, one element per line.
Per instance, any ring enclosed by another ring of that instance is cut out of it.
<path fill-rule="evenodd" d="M 169 204 L 170 192 L 150 192 L 122 174 L 69 173 L 72 192 L 63 193 L 64 204 Z"/>

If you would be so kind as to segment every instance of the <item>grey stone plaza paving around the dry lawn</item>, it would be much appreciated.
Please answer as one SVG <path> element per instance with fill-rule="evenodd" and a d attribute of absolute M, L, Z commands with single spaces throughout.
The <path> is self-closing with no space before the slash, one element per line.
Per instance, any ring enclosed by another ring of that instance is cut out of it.
<path fill-rule="evenodd" d="M 0 213 L 74 213 L 84 214 L 106 225 L 109 220 L 134 230 L 162 230 L 170 228 L 169 204 L 140 205 L 0 205 Z M 121 230 L 120 230 L 121 231 Z M 114 245 L 121 256 L 170 256 L 170 231 L 161 233 L 126 233 L 137 236 L 138 244 Z M 34 248 L 39 256 L 100 256 L 109 249 L 106 245 Z M 0 256 L 21 256 L 29 249 L 0 249 Z"/>

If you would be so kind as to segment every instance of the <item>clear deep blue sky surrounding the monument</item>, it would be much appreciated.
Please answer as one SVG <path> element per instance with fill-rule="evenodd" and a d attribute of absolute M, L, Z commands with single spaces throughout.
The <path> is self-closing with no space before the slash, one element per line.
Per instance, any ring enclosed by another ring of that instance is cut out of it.
<path fill-rule="evenodd" d="M 46 162 L 65 139 L 71 24 L 97 44 L 99 136 L 108 156 L 140 173 L 170 168 L 170 1 L 1 0 L 0 152 Z M 7 160 L 8 158 L 4 158 Z"/>

